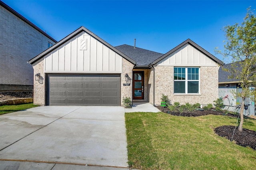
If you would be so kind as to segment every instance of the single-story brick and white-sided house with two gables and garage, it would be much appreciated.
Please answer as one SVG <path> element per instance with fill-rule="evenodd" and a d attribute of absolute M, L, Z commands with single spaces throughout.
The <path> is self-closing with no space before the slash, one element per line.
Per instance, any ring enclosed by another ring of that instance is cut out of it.
<path fill-rule="evenodd" d="M 113 47 L 85 27 L 29 63 L 36 75 L 34 104 L 81 106 L 121 106 L 123 97 L 160 105 L 162 94 L 172 103 L 213 104 L 223 64 L 190 39 L 161 54 Z"/>

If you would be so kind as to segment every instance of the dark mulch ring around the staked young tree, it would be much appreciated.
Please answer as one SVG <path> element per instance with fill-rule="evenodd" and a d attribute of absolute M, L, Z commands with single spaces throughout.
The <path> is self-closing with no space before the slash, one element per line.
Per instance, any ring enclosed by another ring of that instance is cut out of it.
<path fill-rule="evenodd" d="M 231 141 L 234 129 L 234 126 L 220 126 L 215 128 L 214 131 L 219 136 L 225 137 Z M 240 132 L 238 131 L 238 127 L 236 127 L 233 141 L 240 146 L 251 147 L 252 149 L 256 150 L 256 131 L 243 128 L 243 130 Z"/>

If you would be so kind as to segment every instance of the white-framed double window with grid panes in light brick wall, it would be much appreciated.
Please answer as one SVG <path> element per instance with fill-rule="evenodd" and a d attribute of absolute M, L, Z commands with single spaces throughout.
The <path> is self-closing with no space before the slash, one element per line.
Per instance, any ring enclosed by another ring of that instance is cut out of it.
<path fill-rule="evenodd" d="M 199 68 L 174 67 L 174 94 L 199 94 Z"/>

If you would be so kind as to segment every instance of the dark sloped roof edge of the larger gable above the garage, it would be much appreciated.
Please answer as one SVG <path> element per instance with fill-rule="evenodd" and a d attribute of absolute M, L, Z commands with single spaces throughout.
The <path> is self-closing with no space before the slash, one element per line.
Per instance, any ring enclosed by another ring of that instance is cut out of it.
<path fill-rule="evenodd" d="M 34 57 L 33 59 L 30 59 L 28 61 L 28 63 L 33 64 L 36 61 L 42 59 L 45 55 L 47 55 L 48 53 L 54 51 L 55 49 L 57 49 L 58 47 L 60 47 L 61 45 L 63 45 L 64 43 L 66 43 L 67 41 L 69 41 L 70 39 L 72 39 L 73 37 L 75 37 L 76 35 L 78 35 L 79 33 L 85 31 L 86 33 L 88 33 L 90 36 L 94 37 L 95 39 L 97 39 L 98 41 L 100 41 L 101 43 L 103 43 L 104 45 L 106 45 L 108 48 L 112 49 L 113 51 L 115 51 L 116 53 L 118 53 L 120 56 L 124 57 L 126 60 L 130 61 L 133 64 L 136 64 L 136 62 L 133 59 L 130 59 L 130 57 L 126 56 L 125 54 L 123 54 L 122 52 L 120 52 L 118 49 L 114 48 L 112 45 L 110 45 L 109 43 L 107 43 L 106 41 L 104 41 L 103 39 L 101 39 L 100 37 L 98 37 L 97 35 L 95 35 L 94 33 L 92 33 L 92 31 L 86 29 L 85 27 L 81 26 L 80 28 L 76 29 L 74 32 L 72 32 L 70 35 L 66 36 L 64 39 L 60 40 L 58 43 L 54 44 L 52 47 L 46 49 L 45 51 L 43 51 L 42 53 L 40 53 L 39 55 L 37 55 L 36 57 Z"/>

